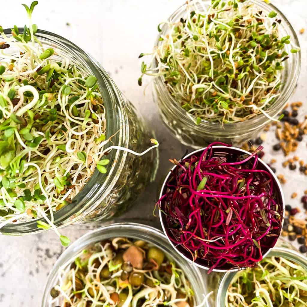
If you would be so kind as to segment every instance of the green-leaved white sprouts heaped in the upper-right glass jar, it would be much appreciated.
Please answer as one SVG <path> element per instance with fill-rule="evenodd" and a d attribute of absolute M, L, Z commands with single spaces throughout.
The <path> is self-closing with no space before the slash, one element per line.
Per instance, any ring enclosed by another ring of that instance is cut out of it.
<path fill-rule="evenodd" d="M 242 122 L 263 113 L 280 95 L 284 61 L 281 20 L 251 0 L 191 1 L 177 21 L 159 24 L 159 44 L 143 75 L 162 77 L 170 95 L 199 124 Z M 160 28 L 163 25 L 162 29 Z M 163 32 L 162 32 L 163 30 Z M 299 49 L 293 45 L 291 52 Z"/>

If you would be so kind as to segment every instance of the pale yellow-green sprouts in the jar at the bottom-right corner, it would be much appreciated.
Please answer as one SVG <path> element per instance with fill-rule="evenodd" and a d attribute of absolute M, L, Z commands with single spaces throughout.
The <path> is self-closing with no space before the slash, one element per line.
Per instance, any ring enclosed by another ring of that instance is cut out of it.
<path fill-rule="evenodd" d="M 307 306 L 307 270 L 283 257 L 264 258 L 258 267 L 235 275 L 225 306 Z"/>

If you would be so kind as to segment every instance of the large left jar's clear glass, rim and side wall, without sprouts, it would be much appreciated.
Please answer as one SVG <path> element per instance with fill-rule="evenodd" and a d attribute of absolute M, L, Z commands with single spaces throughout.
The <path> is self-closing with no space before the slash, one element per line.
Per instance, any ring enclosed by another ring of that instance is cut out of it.
<path fill-rule="evenodd" d="M 4 32 L 8 37 L 11 36 L 11 29 Z M 23 28 L 19 28 L 19 32 L 22 33 Z M 44 47 L 52 47 L 67 54 L 71 58 L 71 63 L 85 75 L 97 77 L 106 111 L 106 139 L 113 136 L 105 148 L 117 145 L 142 152 L 152 146 L 150 138 L 154 138 L 154 132 L 146 126 L 134 106 L 123 97 L 113 80 L 95 59 L 57 34 L 39 30 L 36 37 Z M 0 37 L 0 41 L 2 40 L 3 37 Z M 59 56 L 53 56 L 52 59 L 62 60 Z M 157 149 L 141 157 L 113 149 L 108 154 L 108 159 L 109 165 L 112 165 L 108 173 L 102 174 L 96 169 L 84 188 L 72 199 L 72 203 L 54 212 L 55 226 L 118 216 L 126 211 L 146 185 L 155 179 L 158 167 Z M 36 233 L 42 231 L 37 228 L 38 220 L 44 221 L 44 218 L 9 223 L 3 226 L 0 232 L 6 235 Z"/>

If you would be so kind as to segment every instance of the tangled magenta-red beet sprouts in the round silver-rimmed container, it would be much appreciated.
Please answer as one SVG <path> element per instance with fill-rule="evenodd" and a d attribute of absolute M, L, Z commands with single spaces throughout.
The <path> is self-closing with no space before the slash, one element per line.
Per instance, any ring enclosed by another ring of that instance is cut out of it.
<path fill-rule="evenodd" d="M 214 148 L 171 171 L 158 204 L 169 239 L 193 261 L 213 269 L 253 267 L 273 247 L 282 225 L 280 191 L 257 150 Z"/>

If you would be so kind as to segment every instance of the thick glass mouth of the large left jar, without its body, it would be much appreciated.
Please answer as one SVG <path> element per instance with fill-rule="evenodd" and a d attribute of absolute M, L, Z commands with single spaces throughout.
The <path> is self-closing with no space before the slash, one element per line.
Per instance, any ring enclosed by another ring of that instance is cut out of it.
<path fill-rule="evenodd" d="M 19 33 L 23 28 L 18 28 Z M 10 37 L 11 29 L 5 29 L 4 33 Z M 113 80 L 108 76 L 102 66 L 87 52 L 84 52 L 77 45 L 55 33 L 45 30 L 38 30 L 35 36 L 43 45 L 52 46 L 54 49 L 67 53 L 72 61 L 80 70 L 86 74 L 97 77 L 99 90 L 102 94 L 104 107 L 106 110 L 106 139 L 112 136 L 112 145 L 127 147 L 129 142 L 128 119 L 125 116 L 125 103 Z M 3 39 L 3 38 L 2 38 Z M 105 145 L 105 148 L 109 146 Z M 54 225 L 61 227 L 64 223 L 70 222 L 78 217 L 90 205 L 98 205 L 96 195 L 109 193 L 120 176 L 120 170 L 126 160 L 127 153 L 121 150 L 111 150 L 108 154 L 109 165 L 112 167 L 107 174 L 100 173 L 97 169 L 81 191 L 72 199 L 72 202 L 65 205 L 58 211 L 53 212 Z M 90 199 L 90 200 L 89 200 Z M 47 213 L 48 211 L 46 211 Z M 50 214 L 47 214 L 50 217 Z M 45 221 L 43 217 L 20 221 L 18 223 L 8 223 L 0 229 L 0 233 L 5 235 L 20 235 L 46 231 L 37 228 L 37 221 Z"/>

